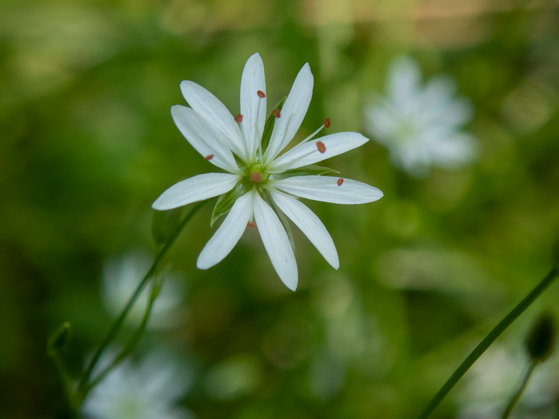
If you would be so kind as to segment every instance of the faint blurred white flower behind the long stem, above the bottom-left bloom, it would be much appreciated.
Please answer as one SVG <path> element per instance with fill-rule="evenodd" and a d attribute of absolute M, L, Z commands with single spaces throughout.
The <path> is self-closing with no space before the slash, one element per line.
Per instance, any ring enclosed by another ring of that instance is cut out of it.
<path fill-rule="evenodd" d="M 101 297 L 108 313 L 115 317 L 120 315 L 152 263 L 153 259 L 144 251 L 133 251 L 106 261 Z M 179 321 L 177 309 L 184 298 L 184 285 L 176 273 L 167 272 L 164 275 L 163 286 L 151 307 L 148 327 L 174 327 Z M 128 320 L 136 324 L 141 322 L 150 293 L 151 286 L 147 285 L 132 307 Z"/>

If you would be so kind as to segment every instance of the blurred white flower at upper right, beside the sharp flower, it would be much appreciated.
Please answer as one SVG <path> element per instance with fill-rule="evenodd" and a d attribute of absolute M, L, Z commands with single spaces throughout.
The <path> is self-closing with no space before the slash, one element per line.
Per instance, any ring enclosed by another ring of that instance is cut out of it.
<path fill-rule="evenodd" d="M 462 131 L 471 104 L 455 97 L 452 78 L 438 75 L 423 87 L 419 64 L 401 56 L 390 64 L 386 89 L 388 97 L 376 95 L 366 107 L 366 128 L 395 166 L 421 177 L 430 166 L 454 169 L 475 158 L 477 141 Z"/>

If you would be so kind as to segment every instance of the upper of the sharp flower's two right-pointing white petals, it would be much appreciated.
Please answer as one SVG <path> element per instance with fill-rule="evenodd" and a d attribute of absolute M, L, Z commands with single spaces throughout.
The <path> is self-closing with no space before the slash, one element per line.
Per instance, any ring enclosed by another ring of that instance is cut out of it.
<path fill-rule="evenodd" d="M 326 147 L 324 153 L 320 153 L 316 143 L 321 141 Z M 338 132 L 337 134 L 325 135 L 316 140 L 311 140 L 295 146 L 273 162 L 272 170 L 289 170 L 300 168 L 319 161 L 328 159 L 346 151 L 353 150 L 365 144 L 369 139 L 358 132 Z"/>

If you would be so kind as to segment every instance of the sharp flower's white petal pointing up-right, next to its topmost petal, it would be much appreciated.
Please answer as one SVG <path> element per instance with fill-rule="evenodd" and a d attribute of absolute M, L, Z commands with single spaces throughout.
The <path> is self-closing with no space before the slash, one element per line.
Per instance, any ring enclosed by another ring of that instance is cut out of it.
<path fill-rule="evenodd" d="M 303 122 L 312 97 L 312 77 L 309 63 L 301 68 L 293 82 L 285 103 L 281 109 L 281 116 L 274 123 L 274 130 L 266 149 L 266 161 L 272 161 L 278 153 L 291 141 Z"/>

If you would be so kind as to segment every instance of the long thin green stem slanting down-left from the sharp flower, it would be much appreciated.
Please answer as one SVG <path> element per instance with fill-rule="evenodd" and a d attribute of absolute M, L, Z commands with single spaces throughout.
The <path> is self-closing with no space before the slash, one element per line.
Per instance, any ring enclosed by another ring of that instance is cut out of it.
<path fill-rule="evenodd" d="M 95 365 L 97 364 L 97 361 L 99 360 L 101 354 L 106 349 L 108 344 L 110 344 L 111 341 L 113 339 L 115 339 L 116 335 L 120 331 L 120 328 L 122 327 L 122 324 L 124 323 L 124 321 L 126 319 L 126 316 L 130 312 L 132 306 L 134 306 L 134 303 L 136 302 L 136 299 L 138 299 L 138 297 L 140 296 L 141 292 L 143 291 L 145 285 L 149 282 L 151 277 L 153 277 L 153 275 L 155 274 L 155 271 L 157 270 L 157 266 L 159 265 L 160 261 L 163 259 L 163 256 L 165 256 L 165 254 L 167 254 L 170 247 L 177 240 L 177 237 L 181 234 L 181 231 L 184 228 L 184 226 L 187 225 L 187 223 L 195 215 L 195 213 L 198 211 L 198 209 L 200 209 L 203 206 L 203 204 L 205 204 L 206 202 L 207 201 L 202 201 L 202 202 L 196 204 L 196 206 L 194 206 L 190 210 L 190 212 L 182 220 L 181 224 L 177 227 L 177 230 L 174 231 L 173 235 L 170 237 L 167 244 L 165 244 L 163 249 L 159 252 L 157 257 L 155 258 L 155 261 L 154 261 L 153 265 L 151 265 L 151 268 L 149 268 L 148 273 L 145 274 L 144 279 L 141 280 L 140 284 L 136 288 L 136 291 L 134 291 L 134 294 L 132 294 L 132 297 L 130 297 L 130 300 L 126 304 L 126 307 L 120 313 L 119 318 L 117 318 L 115 320 L 115 322 L 113 323 L 113 325 L 111 327 L 111 330 L 108 332 L 107 336 L 105 336 L 105 339 L 103 340 L 103 342 L 98 347 L 95 354 L 93 355 L 93 358 L 91 359 L 91 361 L 89 362 L 89 365 L 87 366 L 86 372 L 84 372 L 84 374 L 82 375 L 82 378 L 79 381 L 79 384 L 78 384 L 78 387 L 77 387 L 77 390 L 76 390 L 77 394 L 82 393 L 84 387 L 86 387 L 86 385 L 88 383 L 88 380 L 89 380 L 89 377 L 91 377 L 91 373 L 93 372 L 93 368 L 95 368 Z M 88 391 L 91 390 L 91 388 L 92 387 L 90 386 L 88 388 Z M 84 395 L 81 398 L 82 400 L 83 400 L 83 397 L 84 397 Z"/>

